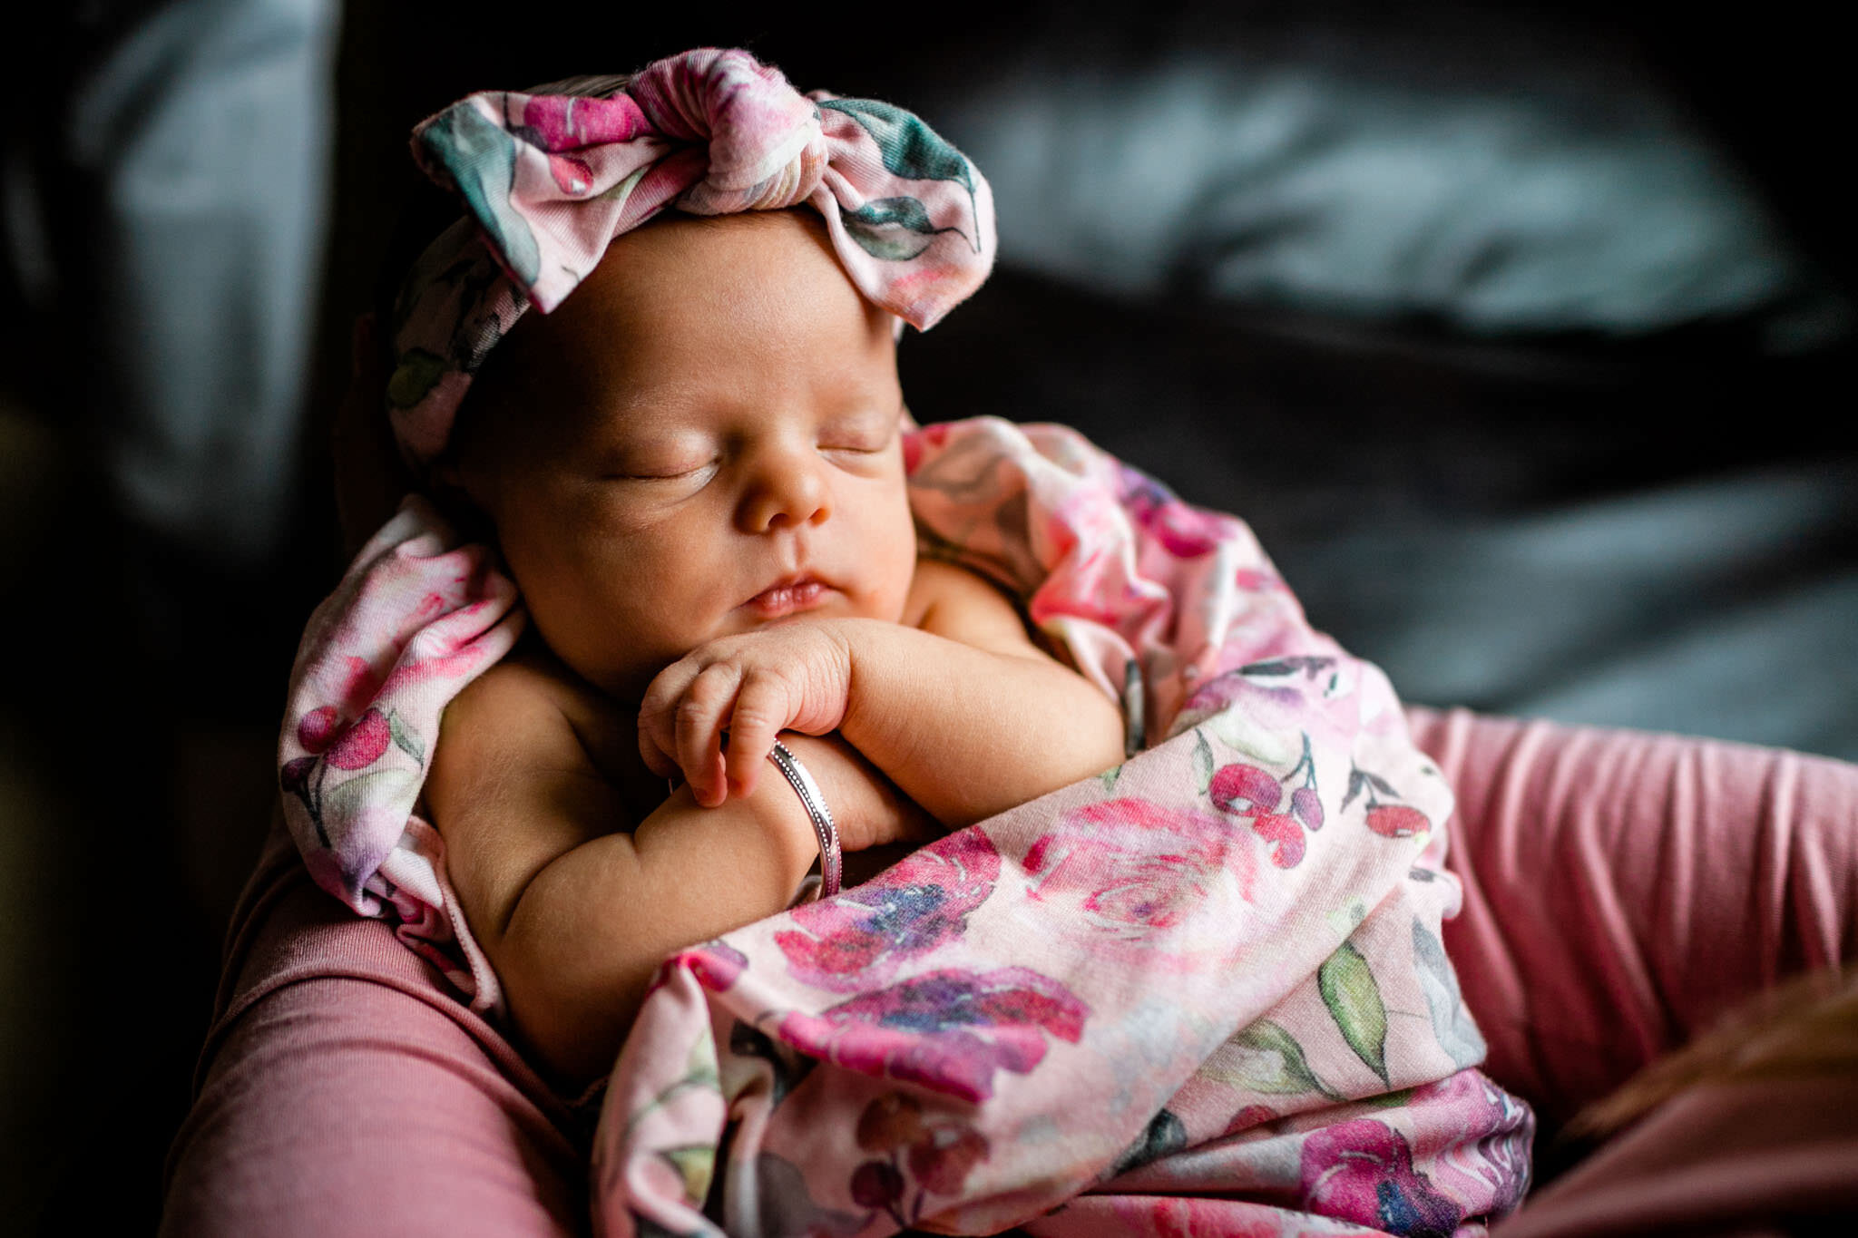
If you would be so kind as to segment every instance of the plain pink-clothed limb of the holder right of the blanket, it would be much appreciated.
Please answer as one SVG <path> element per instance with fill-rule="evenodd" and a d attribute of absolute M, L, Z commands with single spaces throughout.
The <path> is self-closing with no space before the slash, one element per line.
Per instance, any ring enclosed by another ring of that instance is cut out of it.
<path fill-rule="evenodd" d="M 1408 711 L 1457 789 L 1446 950 L 1544 1130 L 1773 982 L 1858 961 L 1858 767 Z"/>

